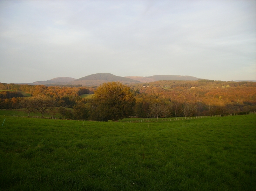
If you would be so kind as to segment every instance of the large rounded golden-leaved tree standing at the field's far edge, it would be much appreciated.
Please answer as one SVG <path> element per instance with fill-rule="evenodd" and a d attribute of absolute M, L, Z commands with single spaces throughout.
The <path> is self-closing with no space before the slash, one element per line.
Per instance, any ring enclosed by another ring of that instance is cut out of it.
<path fill-rule="evenodd" d="M 103 83 L 94 92 L 96 120 L 117 121 L 133 113 L 135 98 L 130 88 L 120 82 Z"/>

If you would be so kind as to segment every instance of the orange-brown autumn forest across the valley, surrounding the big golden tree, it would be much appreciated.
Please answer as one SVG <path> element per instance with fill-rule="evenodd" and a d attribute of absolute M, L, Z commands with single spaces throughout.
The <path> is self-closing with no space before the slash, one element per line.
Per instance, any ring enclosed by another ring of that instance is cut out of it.
<path fill-rule="evenodd" d="M 163 80 L 122 85 L 122 88 L 125 87 L 128 87 L 126 92 L 129 91 L 133 96 L 130 97 L 132 102 L 124 107 L 124 103 L 120 102 L 119 98 L 123 94 L 118 95 L 113 101 L 117 106 L 111 110 L 115 113 L 115 117 L 105 115 L 110 110 L 103 111 L 107 105 L 110 105 L 109 98 L 107 101 L 99 101 L 95 95 L 92 98 L 81 98 L 81 95 L 99 91 L 99 87 L 64 85 L 47 87 L 0 83 L 0 109 L 23 109 L 27 111 L 28 116 L 35 111 L 41 112 L 43 116 L 48 110 L 54 110 L 66 119 L 99 121 L 118 120 L 124 117 L 224 116 L 256 112 L 256 82 Z M 31 97 L 23 96 L 20 92 L 29 93 Z M 113 94 L 108 96 L 113 97 Z M 41 102 L 48 100 L 50 104 L 46 108 L 39 109 L 40 99 Z M 26 108 L 29 101 L 33 105 L 36 100 L 37 106 Z M 103 102 L 104 105 L 100 105 Z M 119 106 L 126 108 L 126 111 L 117 109 Z M 125 115 L 118 116 L 117 113 L 125 113 Z"/>

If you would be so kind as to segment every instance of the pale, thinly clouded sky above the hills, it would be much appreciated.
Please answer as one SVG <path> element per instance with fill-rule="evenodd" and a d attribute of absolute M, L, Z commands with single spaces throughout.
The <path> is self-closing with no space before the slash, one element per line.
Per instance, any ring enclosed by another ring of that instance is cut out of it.
<path fill-rule="evenodd" d="M 256 80 L 255 0 L 0 0 L 0 82 Z"/>

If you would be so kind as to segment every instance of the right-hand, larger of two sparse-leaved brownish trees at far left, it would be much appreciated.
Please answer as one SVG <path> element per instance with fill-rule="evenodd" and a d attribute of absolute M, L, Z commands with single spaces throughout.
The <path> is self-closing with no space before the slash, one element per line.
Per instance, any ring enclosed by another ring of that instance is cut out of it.
<path fill-rule="evenodd" d="M 43 114 L 51 109 L 55 104 L 55 100 L 49 96 L 39 95 L 34 97 L 34 109 L 38 110 L 43 117 Z"/>

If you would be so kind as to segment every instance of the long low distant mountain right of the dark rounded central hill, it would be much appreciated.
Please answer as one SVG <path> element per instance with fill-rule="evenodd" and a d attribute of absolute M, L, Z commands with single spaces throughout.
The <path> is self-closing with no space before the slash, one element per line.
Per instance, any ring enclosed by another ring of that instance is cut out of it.
<path fill-rule="evenodd" d="M 126 78 L 139 80 L 141 82 L 154 82 L 159 80 L 199 80 L 193 76 L 180 76 L 180 75 L 154 75 L 154 76 L 126 76 Z"/>

